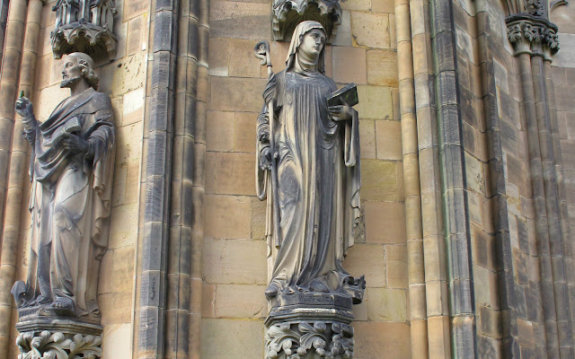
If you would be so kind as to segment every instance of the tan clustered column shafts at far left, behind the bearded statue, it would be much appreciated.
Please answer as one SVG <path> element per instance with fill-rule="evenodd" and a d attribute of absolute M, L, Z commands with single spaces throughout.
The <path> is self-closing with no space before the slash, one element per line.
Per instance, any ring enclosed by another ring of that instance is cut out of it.
<path fill-rule="evenodd" d="M 32 1 L 28 6 L 25 2 L 13 1 L 10 4 L 8 24 L 6 26 L 6 39 L 4 48 L 3 68 L 13 67 L 13 71 L 4 71 L 0 83 L 0 97 L 2 98 L 2 133 L 4 136 L 12 135 L 3 141 L 4 148 L 0 149 L 4 155 L 2 167 L 10 171 L 3 171 L 7 186 L 3 186 L 3 198 L 0 201 L 5 208 L 6 216 L 0 215 L 3 224 L 2 251 L 0 252 L 0 317 L 4 318 L 0 324 L 0 356 L 7 356 L 8 340 L 12 326 L 13 298 L 10 293 L 15 273 L 20 232 L 20 209 L 22 204 L 23 186 L 29 183 L 24 181 L 26 160 L 29 145 L 22 138 L 22 121 L 15 119 L 13 102 L 16 100 L 17 90 L 21 89 L 30 94 L 33 90 L 33 79 L 36 65 L 36 49 L 38 48 L 40 32 L 40 14 L 42 3 Z M 25 34 L 25 35 L 24 35 Z M 24 37 L 25 36 L 25 37 Z M 22 46 L 23 44 L 23 46 Z M 22 54 L 23 52 L 23 54 Z M 19 66 L 22 61 L 22 66 Z M 20 68 L 20 71 L 18 71 Z M 0 210 L 1 211 L 1 210 Z"/>

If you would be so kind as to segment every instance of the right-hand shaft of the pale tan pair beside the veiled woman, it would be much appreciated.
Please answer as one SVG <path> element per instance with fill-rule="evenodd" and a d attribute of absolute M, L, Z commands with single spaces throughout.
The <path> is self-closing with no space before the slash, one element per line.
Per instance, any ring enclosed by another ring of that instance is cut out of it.
<path fill-rule="evenodd" d="M 446 248 L 443 239 L 439 151 L 429 2 L 410 0 L 411 47 L 420 172 L 421 229 L 429 358 L 450 358 Z"/>

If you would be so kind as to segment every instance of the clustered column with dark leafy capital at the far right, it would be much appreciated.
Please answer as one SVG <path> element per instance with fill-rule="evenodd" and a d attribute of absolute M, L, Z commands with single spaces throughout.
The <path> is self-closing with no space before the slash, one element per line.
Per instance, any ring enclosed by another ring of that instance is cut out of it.
<path fill-rule="evenodd" d="M 538 2 L 529 2 L 527 13 L 512 14 L 506 22 L 521 74 L 546 351 L 549 357 L 570 357 L 575 308 L 568 290 L 573 274 L 567 268 L 573 251 L 551 81 L 551 55 L 559 49 L 557 27 L 547 20 L 544 4 Z"/>

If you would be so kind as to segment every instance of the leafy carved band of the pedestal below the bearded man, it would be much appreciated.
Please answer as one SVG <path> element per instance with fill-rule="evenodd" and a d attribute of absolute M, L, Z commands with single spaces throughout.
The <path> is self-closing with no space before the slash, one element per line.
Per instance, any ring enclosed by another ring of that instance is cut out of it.
<path fill-rule="evenodd" d="M 43 330 L 24 332 L 16 338 L 18 359 L 96 359 L 102 357 L 102 337 Z"/>

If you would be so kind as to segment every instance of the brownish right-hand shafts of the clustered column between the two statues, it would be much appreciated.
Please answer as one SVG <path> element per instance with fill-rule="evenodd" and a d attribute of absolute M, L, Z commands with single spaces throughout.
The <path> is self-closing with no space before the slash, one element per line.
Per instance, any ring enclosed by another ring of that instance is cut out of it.
<path fill-rule="evenodd" d="M 205 86 L 207 26 L 200 27 L 206 10 L 199 0 L 180 4 L 177 50 L 172 222 L 168 258 L 165 357 L 199 357 L 201 320 L 201 242 L 203 206 Z M 204 36 L 206 33 L 206 36 Z M 198 93 L 201 92 L 201 93 Z M 199 100 L 201 98 L 201 100 Z"/>

